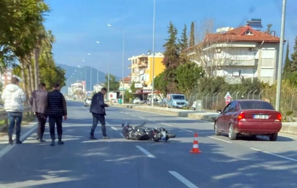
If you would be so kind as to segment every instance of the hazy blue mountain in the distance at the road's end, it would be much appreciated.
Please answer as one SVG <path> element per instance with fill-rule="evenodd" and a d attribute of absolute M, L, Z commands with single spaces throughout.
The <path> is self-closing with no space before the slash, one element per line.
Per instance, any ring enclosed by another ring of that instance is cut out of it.
<path fill-rule="evenodd" d="M 66 86 L 61 89 L 61 92 L 63 94 L 67 94 L 68 87 L 70 87 L 71 84 L 75 83 L 77 80 L 86 80 L 87 91 L 93 91 L 93 86 L 98 82 L 99 83 L 105 82 L 105 75 L 107 73 L 103 73 L 102 71 L 99 71 L 90 66 L 75 67 L 75 66 L 68 66 L 64 64 L 56 64 L 56 65 L 66 71 L 65 77 L 68 79 L 66 81 Z M 92 69 L 92 75 L 91 75 L 91 69 Z M 97 77 L 97 73 L 98 73 L 98 77 Z M 121 79 L 118 76 L 115 76 L 115 78 L 117 81 Z"/>

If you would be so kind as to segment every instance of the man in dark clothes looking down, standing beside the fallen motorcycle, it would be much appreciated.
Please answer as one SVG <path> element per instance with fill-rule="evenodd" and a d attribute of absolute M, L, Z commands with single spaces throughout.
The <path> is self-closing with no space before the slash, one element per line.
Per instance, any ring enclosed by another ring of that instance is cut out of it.
<path fill-rule="evenodd" d="M 104 95 L 107 93 L 106 88 L 102 88 L 100 92 L 94 94 L 92 97 L 92 103 L 90 107 L 90 112 L 93 115 L 93 125 L 91 128 L 91 136 L 90 139 L 96 140 L 94 137 L 94 132 L 97 127 L 98 121 L 101 123 L 102 129 L 102 139 L 108 139 L 106 136 L 106 128 L 105 128 L 105 107 L 108 107 L 107 104 L 104 103 Z"/>

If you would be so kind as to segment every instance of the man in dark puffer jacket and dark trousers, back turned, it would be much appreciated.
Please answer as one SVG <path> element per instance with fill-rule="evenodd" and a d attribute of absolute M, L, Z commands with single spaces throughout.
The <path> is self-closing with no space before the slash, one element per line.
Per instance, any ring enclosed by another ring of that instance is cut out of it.
<path fill-rule="evenodd" d="M 63 94 L 60 93 L 60 85 L 55 84 L 53 90 L 48 93 L 46 99 L 45 115 L 49 116 L 49 133 L 51 138 L 50 146 L 55 145 L 55 124 L 57 126 L 58 145 L 64 144 L 62 141 L 62 119 L 67 120 L 67 106 Z"/>

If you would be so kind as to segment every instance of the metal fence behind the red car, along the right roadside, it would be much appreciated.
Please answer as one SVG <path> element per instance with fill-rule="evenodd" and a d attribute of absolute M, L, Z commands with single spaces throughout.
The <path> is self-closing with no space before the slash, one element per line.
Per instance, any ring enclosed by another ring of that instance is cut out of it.
<path fill-rule="evenodd" d="M 225 95 L 227 92 L 215 93 L 215 94 L 200 94 L 194 93 L 189 96 L 190 105 L 193 104 L 195 100 L 202 100 L 202 109 L 203 110 L 218 110 L 223 109 L 225 107 Z M 272 105 L 275 103 L 275 94 L 267 94 L 265 91 L 229 91 L 232 100 L 236 99 L 257 99 L 257 100 L 266 100 L 271 102 Z M 296 92 L 290 94 L 290 96 L 286 96 L 286 94 L 282 94 L 281 99 L 281 108 L 283 111 L 292 111 L 297 115 L 297 93 Z M 270 97 L 268 97 L 268 95 Z M 288 95 L 288 94 L 287 94 Z M 289 112 L 288 112 L 289 113 Z"/>

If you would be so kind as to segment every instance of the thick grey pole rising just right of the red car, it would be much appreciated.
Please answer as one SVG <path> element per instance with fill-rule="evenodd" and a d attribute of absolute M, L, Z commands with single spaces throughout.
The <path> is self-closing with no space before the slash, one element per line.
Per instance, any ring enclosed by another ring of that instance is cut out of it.
<path fill-rule="evenodd" d="M 287 5 L 287 0 L 283 0 L 281 37 L 280 37 L 280 46 L 279 46 L 279 59 L 278 59 L 278 68 L 277 68 L 277 83 L 276 83 L 276 97 L 275 97 L 275 109 L 277 111 L 280 110 L 281 89 L 282 89 L 282 63 L 283 63 L 284 36 L 285 36 L 286 5 Z"/>

